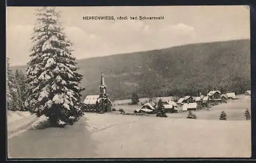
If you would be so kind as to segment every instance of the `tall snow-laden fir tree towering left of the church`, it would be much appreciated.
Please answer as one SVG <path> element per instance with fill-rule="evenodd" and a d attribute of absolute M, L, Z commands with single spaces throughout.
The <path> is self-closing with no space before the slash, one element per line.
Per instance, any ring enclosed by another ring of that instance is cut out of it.
<path fill-rule="evenodd" d="M 37 9 L 28 63 L 28 83 L 31 86 L 26 107 L 37 117 L 46 115 L 52 125 L 65 126 L 78 121 L 81 110 L 80 82 L 72 56 L 72 43 L 67 39 L 55 7 Z"/>

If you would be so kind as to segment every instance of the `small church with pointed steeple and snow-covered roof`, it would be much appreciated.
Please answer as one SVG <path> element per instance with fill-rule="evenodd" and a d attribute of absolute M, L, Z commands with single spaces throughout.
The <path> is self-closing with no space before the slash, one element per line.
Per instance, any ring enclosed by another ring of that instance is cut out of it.
<path fill-rule="evenodd" d="M 101 113 L 111 111 L 112 104 L 108 94 L 106 94 L 106 85 L 103 73 L 101 73 L 99 90 L 99 95 L 88 95 L 86 99 L 84 99 L 83 103 L 86 105 L 86 108 L 84 109 L 85 111 Z"/>

